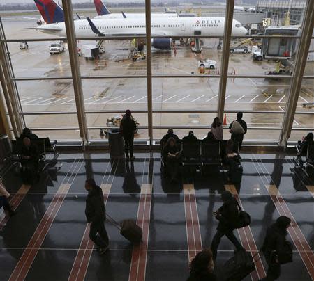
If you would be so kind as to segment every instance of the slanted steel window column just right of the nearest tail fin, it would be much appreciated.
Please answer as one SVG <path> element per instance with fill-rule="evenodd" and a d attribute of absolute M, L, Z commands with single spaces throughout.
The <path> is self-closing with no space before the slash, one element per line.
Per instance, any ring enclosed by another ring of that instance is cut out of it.
<path fill-rule="evenodd" d="M 86 145 L 88 142 L 87 122 L 85 117 L 80 63 L 77 58 L 77 44 L 75 36 L 75 24 L 73 19 L 72 1 L 62 0 L 62 6 L 64 11 L 64 21 L 66 24 L 66 38 L 68 42 L 68 54 L 70 56 L 78 125 L 80 127 L 80 136 L 83 140 L 84 145 Z"/>

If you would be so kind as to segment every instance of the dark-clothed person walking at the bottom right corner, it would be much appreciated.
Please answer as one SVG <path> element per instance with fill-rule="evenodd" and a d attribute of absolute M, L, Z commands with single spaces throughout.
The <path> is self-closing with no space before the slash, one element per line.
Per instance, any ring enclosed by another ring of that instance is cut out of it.
<path fill-rule="evenodd" d="M 264 253 L 268 269 L 266 277 L 261 280 L 273 281 L 281 275 L 281 264 L 278 261 L 278 253 L 283 250 L 285 236 L 287 236 L 287 227 L 290 226 L 290 223 L 290 218 L 280 216 L 277 218 L 276 223 L 267 229 L 261 251 Z"/>

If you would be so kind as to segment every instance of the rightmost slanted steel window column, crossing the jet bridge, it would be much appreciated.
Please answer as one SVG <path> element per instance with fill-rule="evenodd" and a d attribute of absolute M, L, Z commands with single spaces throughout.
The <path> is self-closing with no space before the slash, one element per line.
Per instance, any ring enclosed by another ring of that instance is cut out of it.
<path fill-rule="evenodd" d="M 287 140 L 290 138 L 297 102 L 301 90 L 304 69 L 306 67 L 306 58 L 311 44 L 311 37 L 314 28 L 314 1 L 308 0 L 303 22 L 301 24 L 301 39 L 294 63 L 292 79 L 290 81 L 290 91 L 285 106 L 285 115 L 283 117 L 283 127 L 279 138 L 281 146 L 286 147 Z"/>

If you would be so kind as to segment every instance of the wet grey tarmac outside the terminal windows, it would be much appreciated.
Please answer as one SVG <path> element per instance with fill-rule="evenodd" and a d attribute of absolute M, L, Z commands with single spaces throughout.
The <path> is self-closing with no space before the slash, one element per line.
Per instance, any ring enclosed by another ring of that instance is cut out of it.
<path fill-rule="evenodd" d="M 27 19 L 10 19 L 4 17 L 3 26 L 7 39 L 16 38 L 49 38 L 38 31 L 26 29 L 36 26 L 36 21 Z M 90 45 L 93 42 L 77 42 L 78 47 Z M 179 42 L 177 42 L 179 44 Z M 217 50 L 218 39 L 204 40 L 202 54 L 195 54 L 188 46 L 177 46 L 176 51 L 153 50 L 153 74 L 197 74 L 197 61 L 210 58 L 216 61 L 215 70 L 207 70 L 209 74 L 219 74 L 222 52 Z M 62 54 L 50 55 L 50 42 L 29 42 L 28 50 L 20 50 L 18 42 L 8 43 L 10 57 L 16 78 L 38 77 L 38 81 L 17 81 L 20 102 L 24 112 L 75 111 L 73 82 L 64 80 L 40 80 L 40 78 L 70 77 L 70 60 L 68 50 Z M 86 111 L 124 111 L 147 110 L 147 81 L 145 78 L 117 79 L 87 79 L 100 75 L 145 75 L 146 61 L 132 61 L 130 57 L 130 42 L 110 40 L 105 41 L 105 54 L 98 61 L 87 61 L 79 57 L 84 104 Z M 251 54 L 230 54 L 229 73 L 261 75 L 274 71 L 274 61 L 253 61 Z M 305 75 L 314 75 L 314 63 L 306 64 Z M 175 127 L 186 126 L 186 129 L 174 130 L 179 136 L 188 133 L 189 127 L 208 126 L 216 114 L 193 113 L 198 110 L 216 110 L 218 106 L 219 78 L 154 78 L 153 79 L 153 109 L 155 111 L 185 110 L 188 113 L 154 113 L 154 125 Z M 269 79 L 237 78 L 228 79 L 225 110 L 237 111 L 285 111 L 290 79 L 274 81 Z M 296 115 L 294 128 L 314 127 L 314 109 L 305 109 L 302 104 L 314 102 L 314 83 L 304 79 L 297 104 L 297 111 L 308 112 L 306 115 Z M 312 113 L 312 114 L 311 114 Z M 89 127 L 106 125 L 107 119 L 117 114 L 88 113 Z M 147 115 L 135 114 L 141 126 L 147 126 Z M 235 114 L 227 114 L 227 123 L 234 120 Z M 281 127 L 283 114 L 245 113 L 244 119 L 248 127 Z M 59 128 L 77 127 L 75 114 L 63 115 L 25 115 L 28 127 Z M 154 130 L 154 138 L 158 139 L 165 129 Z M 195 135 L 202 138 L 208 129 L 195 129 Z M 279 130 L 248 130 L 246 139 L 277 140 Z M 266 134 L 265 134 L 266 133 Z M 72 140 L 79 138 L 77 130 L 68 131 L 38 131 L 40 135 L 52 138 Z M 100 139 L 99 129 L 89 131 L 91 139 Z M 140 129 L 137 138 L 147 138 L 147 129 Z M 292 131 L 292 139 L 300 139 L 306 131 Z M 225 130 L 225 138 L 229 133 Z"/>

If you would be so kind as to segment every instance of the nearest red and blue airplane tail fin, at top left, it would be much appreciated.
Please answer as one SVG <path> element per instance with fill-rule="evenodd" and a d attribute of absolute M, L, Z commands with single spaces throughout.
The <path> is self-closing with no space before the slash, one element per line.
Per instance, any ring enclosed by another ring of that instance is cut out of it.
<path fill-rule="evenodd" d="M 46 24 L 64 22 L 62 8 L 53 0 L 34 0 Z"/>

